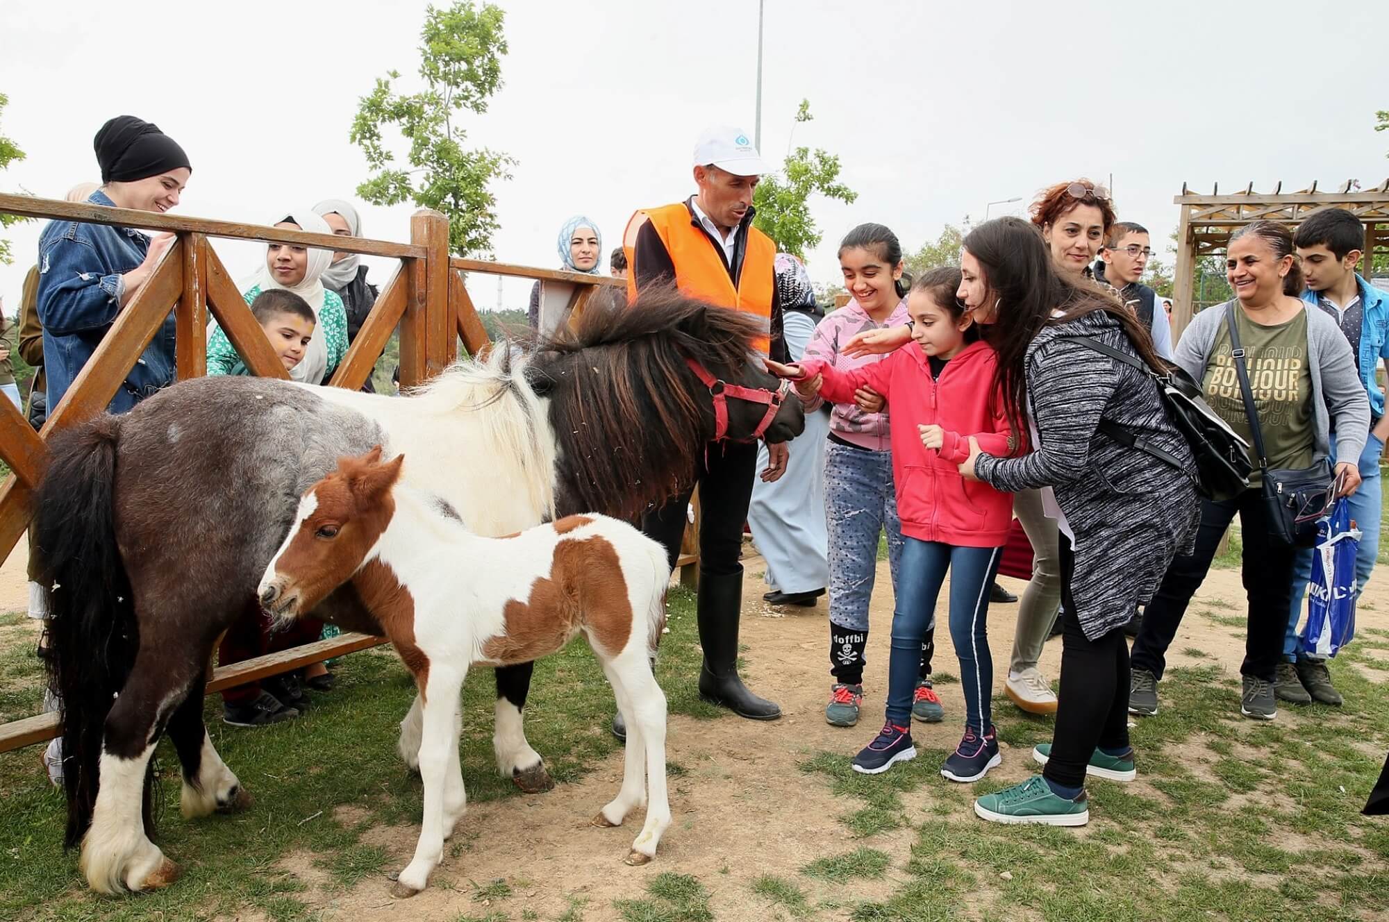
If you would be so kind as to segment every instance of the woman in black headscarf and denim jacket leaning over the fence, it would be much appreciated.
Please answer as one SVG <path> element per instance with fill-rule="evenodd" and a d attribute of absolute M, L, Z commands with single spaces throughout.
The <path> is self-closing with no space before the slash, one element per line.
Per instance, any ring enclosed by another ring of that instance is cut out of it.
<path fill-rule="evenodd" d="M 193 167 L 178 143 L 133 115 L 118 115 L 96 133 L 101 187 L 89 204 L 163 214 L 175 207 Z M 51 221 L 39 237 L 39 321 L 47 405 L 63 394 L 96 351 L 117 315 L 154 274 L 174 242 L 132 228 Z M 125 376 L 108 410 L 124 412 L 174 380 L 174 314 Z"/>

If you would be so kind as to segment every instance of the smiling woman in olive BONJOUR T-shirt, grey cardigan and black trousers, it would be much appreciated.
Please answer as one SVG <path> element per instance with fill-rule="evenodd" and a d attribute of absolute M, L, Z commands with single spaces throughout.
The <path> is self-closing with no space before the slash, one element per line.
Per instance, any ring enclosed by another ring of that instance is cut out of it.
<path fill-rule="evenodd" d="M 1176 364 L 1201 382 L 1211 410 L 1254 446 L 1257 422 L 1268 471 L 1324 462 L 1332 437 L 1338 458 L 1358 458 L 1370 432 L 1370 401 L 1350 343 L 1336 321 L 1321 310 L 1307 310 L 1299 299 L 1303 276 L 1292 233 L 1272 221 L 1240 228 L 1229 239 L 1225 275 L 1235 299 L 1196 315 L 1176 344 Z M 1246 410 L 1239 357 L 1253 396 L 1253 419 Z M 1263 496 L 1264 461 L 1256 453 L 1257 449 L 1250 453 L 1256 465 L 1247 490 L 1220 503 L 1201 501 L 1195 553 L 1172 561 L 1143 612 L 1143 626 L 1133 642 L 1129 693 L 1133 714 L 1157 714 L 1164 654 L 1236 514 L 1249 594 L 1240 712 L 1261 721 L 1272 721 L 1278 714 L 1274 679 L 1282 662 L 1292 601 L 1288 575 L 1296 548 L 1270 526 Z M 1338 464 L 1335 473 L 1342 494 L 1360 486 L 1354 461 Z M 1378 528 L 1378 522 L 1372 526 Z"/>

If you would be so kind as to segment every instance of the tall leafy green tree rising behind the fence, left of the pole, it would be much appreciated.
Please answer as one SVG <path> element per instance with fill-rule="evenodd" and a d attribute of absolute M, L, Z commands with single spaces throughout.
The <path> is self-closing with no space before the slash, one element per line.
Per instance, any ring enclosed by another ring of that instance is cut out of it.
<path fill-rule="evenodd" d="M 361 97 L 349 139 L 361 147 L 372 171 L 357 194 L 378 206 L 414 201 L 449 218 L 449 247 L 458 255 L 479 255 L 497 229 L 493 179 L 510 179 L 515 161 L 504 153 L 464 146 L 463 112 L 481 115 L 501 86 L 501 56 L 507 40 L 504 14 L 490 3 L 461 0 L 446 10 L 432 4 L 419 32 L 419 78 L 414 93 L 396 87 L 399 71 L 376 81 Z M 408 168 L 400 165 L 383 137 L 396 126 L 407 142 Z"/>

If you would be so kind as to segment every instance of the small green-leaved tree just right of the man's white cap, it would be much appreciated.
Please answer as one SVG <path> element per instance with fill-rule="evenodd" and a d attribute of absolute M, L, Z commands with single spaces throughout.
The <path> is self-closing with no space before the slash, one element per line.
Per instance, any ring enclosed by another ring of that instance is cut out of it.
<path fill-rule="evenodd" d="M 813 121 L 810 101 L 801 100 L 796 124 Z M 810 147 L 797 147 L 786 156 L 781 175 L 763 176 L 753 193 L 757 217 L 753 224 L 770 236 L 782 253 L 804 260 L 806 250 L 824 237 L 810 215 L 810 197 L 820 194 L 845 204 L 858 193 L 839 182 L 839 157 Z"/>

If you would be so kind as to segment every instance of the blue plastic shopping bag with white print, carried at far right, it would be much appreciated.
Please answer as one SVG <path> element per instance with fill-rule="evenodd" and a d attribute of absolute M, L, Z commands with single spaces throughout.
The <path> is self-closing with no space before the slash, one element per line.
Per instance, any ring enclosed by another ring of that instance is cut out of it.
<path fill-rule="evenodd" d="M 1356 550 L 1360 529 L 1350 519 L 1350 504 L 1342 497 L 1331 515 L 1317 525 L 1311 582 L 1307 583 L 1307 623 L 1300 637 L 1301 653 L 1333 657 L 1356 636 Z"/>

